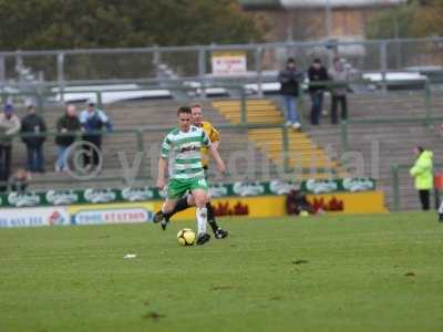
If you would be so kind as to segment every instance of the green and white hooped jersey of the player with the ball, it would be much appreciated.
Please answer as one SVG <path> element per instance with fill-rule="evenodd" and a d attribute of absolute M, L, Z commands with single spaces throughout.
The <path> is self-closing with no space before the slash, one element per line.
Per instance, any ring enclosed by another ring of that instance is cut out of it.
<path fill-rule="evenodd" d="M 172 129 L 163 141 L 161 153 L 162 158 L 168 159 L 169 178 L 204 178 L 200 154 L 204 146 L 209 147 L 210 139 L 203 129 L 196 126 L 186 133 L 177 127 Z"/>

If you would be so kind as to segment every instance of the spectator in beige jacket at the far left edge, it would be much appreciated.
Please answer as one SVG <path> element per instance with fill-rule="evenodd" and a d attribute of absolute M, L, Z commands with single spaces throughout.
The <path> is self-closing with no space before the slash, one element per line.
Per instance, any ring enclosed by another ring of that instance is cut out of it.
<path fill-rule="evenodd" d="M 0 191 L 8 188 L 7 181 L 11 175 L 12 136 L 20 131 L 20 120 L 13 114 L 12 104 L 4 105 L 0 114 Z"/>

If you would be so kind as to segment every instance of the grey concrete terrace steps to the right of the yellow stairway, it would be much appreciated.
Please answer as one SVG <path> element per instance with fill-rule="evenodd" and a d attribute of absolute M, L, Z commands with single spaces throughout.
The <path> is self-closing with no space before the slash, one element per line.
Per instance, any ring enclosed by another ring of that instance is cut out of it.
<path fill-rule="evenodd" d="M 415 145 L 433 151 L 434 164 L 443 162 L 439 123 L 426 127 L 423 121 L 419 121 L 425 115 L 424 98 L 420 92 L 350 95 L 349 102 L 351 121 L 348 125 L 348 151 L 362 153 L 365 162 L 363 175 L 377 179 L 378 186 L 385 193 L 387 206 L 393 208 L 392 165 L 412 165 L 414 158 L 412 149 Z M 329 101 L 324 107 L 329 110 Z M 441 95 L 432 94 L 431 110 L 433 116 L 441 115 L 440 112 L 443 110 Z M 414 118 L 418 121 L 413 121 Z M 318 143 L 330 145 L 333 151 L 342 153 L 340 127 L 329 123 L 329 117 L 323 117 L 320 127 L 308 126 L 306 131 L 311 137 L 316 137 Z M 372 165 L 374 165 L 373 170 Z M 434 170 L 439 172 L 439 167 Z M 359 176 L 353 169 L 350 169 L 350 173 Z M 403 169 L 399 175 L 401 208 L 419 209 L 420 203 L 408 169 Z"/>

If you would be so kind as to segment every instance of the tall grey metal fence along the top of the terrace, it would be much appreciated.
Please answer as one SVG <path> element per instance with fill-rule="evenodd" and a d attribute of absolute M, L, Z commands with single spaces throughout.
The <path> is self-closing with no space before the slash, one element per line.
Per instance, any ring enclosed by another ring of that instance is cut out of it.
<path fill-rule="evenodd" d="M 14 80 L 20 84 L 44 82 L 62 90 L 68 85 L 137 80 L 164 83 L 187 79 L 202 84 L 229 81 L 233 77 L 212 75 L 210 69 L 213 52 L 225 51 L 245 53 L 247 74 L 240 77 L 257 83 L 259 95 L 268 72 L 281 69 L 288 56 L 296 58 L 298 66 L 306 70 L 313 58 L 321 58 L 324 63 L 331 64 L 332 56 L 341 54 L 361 72 L 375 71 L 382 73 L 383 77 L 388 71 L 418 65 L 443 65 L 443 38 L 137 49 L 19 50 L 0 52 L 0 85 Z M 162 74 L 165 68 L 171 75 Z"/>

